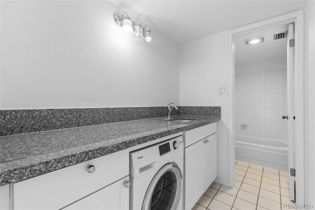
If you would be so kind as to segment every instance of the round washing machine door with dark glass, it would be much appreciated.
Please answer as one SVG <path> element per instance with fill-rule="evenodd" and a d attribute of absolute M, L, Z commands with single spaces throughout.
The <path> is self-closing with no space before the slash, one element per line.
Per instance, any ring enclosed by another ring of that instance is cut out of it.
<path fill-rule="evenodd" d="M 182 202 L 183 176 L 175 163 L 164 165 L 152 179 L 142 210 L 177 210 Z"/>

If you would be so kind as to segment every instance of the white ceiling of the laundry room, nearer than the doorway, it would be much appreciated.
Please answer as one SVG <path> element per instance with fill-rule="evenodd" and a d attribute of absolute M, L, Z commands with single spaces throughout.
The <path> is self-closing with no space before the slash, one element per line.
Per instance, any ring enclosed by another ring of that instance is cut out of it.
<path fill-rule="evenodd" d="M 178 44 L 304 8 L 307 0 L 111 0 Z"/>

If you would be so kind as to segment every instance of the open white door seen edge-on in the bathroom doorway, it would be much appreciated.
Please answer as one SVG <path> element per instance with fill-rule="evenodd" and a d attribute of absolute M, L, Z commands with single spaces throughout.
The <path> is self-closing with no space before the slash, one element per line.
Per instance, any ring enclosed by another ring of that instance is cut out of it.
<path fill-rule="evenodd" d="M 295 169 L 294 46 L 290 46 L 290 40 L 293 38 L 294 38 L 294 24 L 291 23 L 289 24 L 288 35 L 287 35 L 288 180 L 289 180 L 290 199 L 292 201 L 295 201 L 294 176 L 290 175 L 290 169 Z"/>

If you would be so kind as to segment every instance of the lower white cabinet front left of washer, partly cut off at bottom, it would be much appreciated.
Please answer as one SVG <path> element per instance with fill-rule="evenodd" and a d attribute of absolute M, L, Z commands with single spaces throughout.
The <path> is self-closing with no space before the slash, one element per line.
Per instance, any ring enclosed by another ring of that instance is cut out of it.
<path fill-rule="evenodd" d="M 64 207 L 62 210 L 128 210 L 129 188 L 125 186 L 126 181 L 129 181 L 129 176 Z"/>

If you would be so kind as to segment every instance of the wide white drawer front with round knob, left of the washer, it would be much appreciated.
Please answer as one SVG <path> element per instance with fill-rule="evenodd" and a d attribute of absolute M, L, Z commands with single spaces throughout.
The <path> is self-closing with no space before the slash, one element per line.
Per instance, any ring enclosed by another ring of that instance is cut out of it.
<path fill-rule="evenodd" d="M 95 166 L 88 173 L 89 166 Z M 129 173 L 128 151 L 122 150 L 14 184 L 15 210 L 51 210 L 67 206 Z"/>

